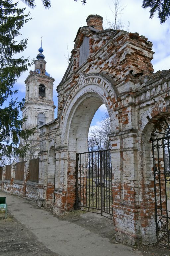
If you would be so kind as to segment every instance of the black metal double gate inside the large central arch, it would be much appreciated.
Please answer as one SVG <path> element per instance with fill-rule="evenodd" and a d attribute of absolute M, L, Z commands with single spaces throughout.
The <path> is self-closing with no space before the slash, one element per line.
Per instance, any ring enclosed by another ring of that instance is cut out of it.
<path fill-rule="evenodd" d="M 76 154 L 76 209 L 113 216 L 110 149 Z"/>

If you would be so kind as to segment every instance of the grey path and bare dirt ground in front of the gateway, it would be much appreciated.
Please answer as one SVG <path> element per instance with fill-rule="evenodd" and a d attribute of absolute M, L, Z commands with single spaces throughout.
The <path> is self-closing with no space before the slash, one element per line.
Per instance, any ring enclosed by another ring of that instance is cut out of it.
<path fill-rule="evenodd" d="M 0 220 L 1 256 L 170 256 L 168 248 L 132 248 L 114 240 L 113 221 L 98 214 L 74 211 L 63 217 L 40 209 L 35 202 L 7 197 L 12 218 Z"/>

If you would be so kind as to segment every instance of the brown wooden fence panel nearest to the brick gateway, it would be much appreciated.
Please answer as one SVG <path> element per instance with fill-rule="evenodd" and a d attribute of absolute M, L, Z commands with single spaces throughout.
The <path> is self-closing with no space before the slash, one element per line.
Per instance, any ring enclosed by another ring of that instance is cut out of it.
<path fill-rule="evenodd" d="M 30 160 L 29 181 L 39 182 L 39 158 Z"/>

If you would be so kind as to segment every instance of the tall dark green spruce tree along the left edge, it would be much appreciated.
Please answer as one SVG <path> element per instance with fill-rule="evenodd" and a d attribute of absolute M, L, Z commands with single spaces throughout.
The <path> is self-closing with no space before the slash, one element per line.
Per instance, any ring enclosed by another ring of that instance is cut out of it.
<path fill-rule="evenodd" d="M 25 99 L 11 99 L 7 106 L 6 101 L 13 97 L 18 90 L 12 90 L 21 74 L 33 64 L 29 58 L 14 58 L 14 55 L 27 48 L 28 39 L 20 42 L 15 37 L 21 35 L 20 28 L 27 23 L 29 14 L 24 14 L 25 8 L 17 8 L 17 3 L 0 0 L 0 160 L 4 155 L 24 156 L 29 144 L 18 149 L 20 139 L 28 139 L 36 130 L 22 130 L 26 119 L 20 119 L 20 110 L 24 107 Z"/>

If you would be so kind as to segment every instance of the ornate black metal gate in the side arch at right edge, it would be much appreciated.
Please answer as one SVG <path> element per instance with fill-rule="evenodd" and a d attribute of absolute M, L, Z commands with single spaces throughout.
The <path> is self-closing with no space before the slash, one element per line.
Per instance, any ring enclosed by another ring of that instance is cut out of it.
<path fill-rule="evenodd" d="M 158 120 L 152 131 L 157 242 L 170 247 L 170 117 Z"/>

